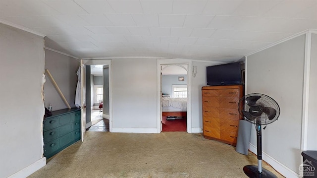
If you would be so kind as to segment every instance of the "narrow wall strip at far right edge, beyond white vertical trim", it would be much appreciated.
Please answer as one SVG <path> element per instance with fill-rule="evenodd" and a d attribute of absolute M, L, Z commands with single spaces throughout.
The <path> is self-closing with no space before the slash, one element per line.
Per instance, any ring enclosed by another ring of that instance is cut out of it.
<path fill-rule="evenodd" d="M 312 34 L 307 150 L 317 150 L 317 34 Z"/>

